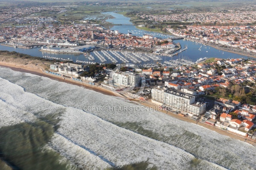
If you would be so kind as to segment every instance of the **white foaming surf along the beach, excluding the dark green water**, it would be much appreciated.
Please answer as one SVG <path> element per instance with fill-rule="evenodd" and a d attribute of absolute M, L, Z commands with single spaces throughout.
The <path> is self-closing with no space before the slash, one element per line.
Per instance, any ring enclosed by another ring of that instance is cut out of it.
<path fill-rule="evenodd" d="M 256 169 L 256 148 L 247 143 L 156 111 L 84 112 L 84 106 L 136 105 L 49 78 L 0 71 L 0 127 L 57 115 L 58 129 L 47 145 L 78 167 L 147 162 L 158 169 Z"/>

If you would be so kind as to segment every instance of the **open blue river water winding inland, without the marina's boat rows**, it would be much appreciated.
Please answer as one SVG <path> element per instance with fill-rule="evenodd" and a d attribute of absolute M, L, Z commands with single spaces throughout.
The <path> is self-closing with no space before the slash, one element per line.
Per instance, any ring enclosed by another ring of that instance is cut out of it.
<path fill-rule="evenodd" d="M 141 37 L 143 35 L 152 35 L 153 37 L 159 37 L 159 38 L 172 38 L 173 37 L 171 35 L 164 35 L 164 34 L 157 33 L 157 32 L 140 30 L 140 29 L 137 29 L 133 25 L 125 25 L 125 24 L 132 24 L 132 23 L 130 22 L 129 17 L 125 17 L 122 14 L 117 14 L 115 12 L 105 12 L 102 14 L 108 14 L 108 15 L 112 15 L 113 17 L 115 17 L 113 19 L 106 20 L 108 22 L 111 22 L 114 24 L 124 24 L 124 25 L 119 25 L 119 26 L 113 26 L 111 28 L 113 30 L 118 30 L 120 33 L 127 34 L 128 32 L 132 32 L 132 35 L 141 36 Z M 180 43 L 182 47 L 187 45 L 188 49 L 172 58 L 167 57 L 167 56 L 162 56 L 163 60 L 160 61 L 160 63 L 163 63 L 164 61 L 169 61 L 170 59 L 175 60 L 178 58 L 189 58 L 192 61 L 196 61 L 199 58 L 205 58 L 205 57 L 207 57 L 207 58 L 212 58 L 212 57 L 214 57 L 214 58 L 248 58 L 247 56 L 244 56 L 244 55 L 239 55 L 239 54 L 235 54 L 235 53 L 231 53 L 231 52 L 222 51 L 222 50 L 210 47 L 210 46 L 202 46 L 201 43 L 192 42 L 189 40 L 183 40 L 183 39 L 182 40 L 174 40 L 174 42 Z M 201 47 L 201 51 L 199 50 L 200 47 Z M 27 55 L 32 55 L 35 57 L 51 56 L 51 57 L 65 58 L 65 59 L 70 58 L 70 59 L 73 59 L 73 61 L 79 60 L 79 61 L 88 61 L 89 62 L 89 60 L 87 58 L 85 58 L 84 55 L 82 55 L 82 54 L 56 54 L 56 53 L 50 53 L 50 52 L 41 52 L 41 51 L 39 51 L 39 48 L 20 49 L 20 48 L 13 48 L 13 47 L 9 47 L 9 46 L 0 45 L 0 50 L 16 51 L 16 52 L 20 52 L 20 53 L 27 54 Z M 91 62 L 101 63 L 99 58 L 97 58 L 96 56 L 94 56 L 94 57 L 96 60 L 91 61 Z M 105 62 L 105 63 L 111 63 L 111 61 L 108 58 L 105 58 L 105 59 L 107 60 L 107 62 Z M 152 63 L 152 62 L 151 61 L 150 62 L 142 62 L 142 64 Z M 122 63 L 122 61 L 119 61 L 119 63 Z"/>

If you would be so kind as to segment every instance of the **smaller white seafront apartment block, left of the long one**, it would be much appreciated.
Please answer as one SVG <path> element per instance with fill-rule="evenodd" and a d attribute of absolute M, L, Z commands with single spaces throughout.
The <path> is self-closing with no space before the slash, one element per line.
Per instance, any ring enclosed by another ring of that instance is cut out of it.
<path fill-rule="evenodd" d="M 139 86 L 140 84 L 140 75 L 125 72 L 125 73 L 117 73 L 111 72 L 110 73 L 113 83 L 124 85 L 124 86 Z"/>

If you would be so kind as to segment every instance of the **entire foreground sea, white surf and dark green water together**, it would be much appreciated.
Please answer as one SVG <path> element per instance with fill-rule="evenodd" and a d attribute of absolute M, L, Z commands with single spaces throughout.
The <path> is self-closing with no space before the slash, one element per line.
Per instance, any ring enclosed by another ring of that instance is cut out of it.
<path fill-rule="evenodd" d="M 256 147 L 143 108 L 0 68 L 0 159 L 18 170 L 256 169 Z"/>

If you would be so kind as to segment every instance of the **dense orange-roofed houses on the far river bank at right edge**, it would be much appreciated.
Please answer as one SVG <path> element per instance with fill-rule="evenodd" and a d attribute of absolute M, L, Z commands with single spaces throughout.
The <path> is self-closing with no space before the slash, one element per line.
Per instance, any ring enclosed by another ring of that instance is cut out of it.
<path fill-rule="evenodd" d="M 177 36 L 256 52 L 256 26 L 186 26 L 183 29 L 166 29 Z"/>

